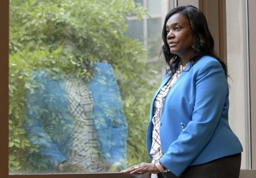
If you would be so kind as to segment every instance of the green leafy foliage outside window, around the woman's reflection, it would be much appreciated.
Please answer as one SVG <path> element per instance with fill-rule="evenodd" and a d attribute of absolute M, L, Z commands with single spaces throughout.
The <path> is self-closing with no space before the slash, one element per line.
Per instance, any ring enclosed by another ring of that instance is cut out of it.
<path fill-rule="evenodd" d="M 124 35 L 132 14 L 147 12 L 133 0 L 10 0 L 10 172 L 29 172 L 26 155 L 38 151 L 23 128 L 25 93 L 38 87 L 29 74 L 49 68 L 90 78 L 95 61 L 110 63 L 117 77 L 129 126 L 127 166 L 149 161 L 145 133 L 154 74 L 146 70 L 142 44 Z"/>

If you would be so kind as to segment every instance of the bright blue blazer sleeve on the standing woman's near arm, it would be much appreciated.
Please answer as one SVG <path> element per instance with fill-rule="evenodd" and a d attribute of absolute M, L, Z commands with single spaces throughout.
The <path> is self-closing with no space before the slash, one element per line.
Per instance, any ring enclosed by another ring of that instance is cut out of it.
<path fill-rule="evenodd" d="M 208 144 L 228 100 L 226 77 L 217 60 L 204 63 L 192 80 L 195 95 L 191 121 L 160 159 L 176 176 L 180 176 Z"/>

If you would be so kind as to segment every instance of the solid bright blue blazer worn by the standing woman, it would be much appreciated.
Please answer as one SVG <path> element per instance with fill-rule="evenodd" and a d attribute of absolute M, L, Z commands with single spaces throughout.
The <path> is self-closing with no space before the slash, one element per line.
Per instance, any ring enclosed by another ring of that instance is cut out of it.
<path fill-rule="evenodd" d="M 220 63 L 203 56 L 192 67 L 188 62 L 186 69 L 167 94 L 160 118 L 164 152 L 160 162 L 176 176 L 188 166 L 242 152 L 228 123 L 229 87 Z M 151 102 L 148 153 L 152 144 L 153 102 L 169 79 L 165 73 Z"/>

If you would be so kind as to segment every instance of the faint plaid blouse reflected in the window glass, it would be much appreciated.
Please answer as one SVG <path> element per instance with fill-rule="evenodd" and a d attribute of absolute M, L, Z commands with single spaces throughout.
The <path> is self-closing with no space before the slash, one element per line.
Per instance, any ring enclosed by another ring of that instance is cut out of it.
<path fill-rule="evenodd" d="M 70 77 L 70 76 L 69 76 Z M 68 77 L 67 77 L 68 78 Z M 93 127 L 94 98 L 82 79 L 66 79 L 66 91 L 71 115 L 74 117 L 74 138 L 65 164 L 76 165 L 81 172 L 98 172 L 104 168 Z"/>

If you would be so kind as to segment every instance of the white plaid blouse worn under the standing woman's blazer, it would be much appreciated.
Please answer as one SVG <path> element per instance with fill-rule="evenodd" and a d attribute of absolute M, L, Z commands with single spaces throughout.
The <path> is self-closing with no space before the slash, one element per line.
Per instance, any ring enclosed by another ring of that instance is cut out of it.
<path fill-rule="evenodd" d="M 152 131 L 152 145 L 150 150 L 150 155 L 153 157 L 151 163 L 155 163 L 156 161 L 160 160 L 160 158 L 164 155 L 162 148 L 161 148 L 161 141 L 159 135 L 160 129 L 160 118 L 162 113 L 162 106 L 164 105 L 164 101 L 166 95 L 168 94 L 171 87 L 175 84 L 177 79 L 180 77 L 181 73 L 186 70 L 186 67 L 182 66 L 181 63 L 178 65 L 176 72 L 172 75 L 170 80 L 162 87 L 155 98 L 154 105 L 153 105 L 153 131 Z M 165 172 L 168 170 L 166 169 Z M 157 174 L 151 174 L 151 178 L 158 178 Z"/>

